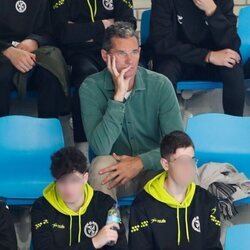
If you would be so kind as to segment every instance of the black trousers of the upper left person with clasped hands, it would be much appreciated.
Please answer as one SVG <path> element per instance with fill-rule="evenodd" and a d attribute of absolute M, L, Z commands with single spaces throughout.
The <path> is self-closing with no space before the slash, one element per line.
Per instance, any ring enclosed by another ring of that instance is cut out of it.
<path fill-rule="evenodd" d="M 9 115 L 10 94 L 16 68 L 6 58 L 0 57 L 0 116 Z M 35 84 L 38 90 L 38 117 L 56 118 L 63 110 L 65 96 L 57 78 L 48 70 L 35 66 L 28 74 L 28 88 Z M 33 87 L 33 86 L 32 86 Z"/>

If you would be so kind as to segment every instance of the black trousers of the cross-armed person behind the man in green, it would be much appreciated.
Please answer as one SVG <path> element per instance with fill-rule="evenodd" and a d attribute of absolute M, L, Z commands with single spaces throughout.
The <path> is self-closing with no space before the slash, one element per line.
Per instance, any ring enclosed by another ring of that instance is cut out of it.
<path fill-rule="evenodd" d="M 79 88 L 86 77 L 103 70 L 106 64 L 101 58 L 100 51 L 72 54 L 67 61 L 72 66 L 71 85 L 75 87 L 71 103 L 74 141 L 76 143 L 86 142 L 87 138 L 81 117 Z"/>

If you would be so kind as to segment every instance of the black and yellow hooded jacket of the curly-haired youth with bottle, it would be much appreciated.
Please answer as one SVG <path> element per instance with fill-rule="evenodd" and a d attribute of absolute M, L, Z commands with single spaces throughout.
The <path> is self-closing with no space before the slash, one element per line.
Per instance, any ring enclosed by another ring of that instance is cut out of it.
<path fill-rule="evenodd" d="M 108 195 L 84 186 L 85 202 L 79 212 L 69 209 L 51 183 L 33 205 L 31 211 L 34 250 L 92 250 L 93 238 L 106 224 L 108 210 L 114 200 Z M 127 250 L 121 224 L 117 244 L 102 249 Z"/>

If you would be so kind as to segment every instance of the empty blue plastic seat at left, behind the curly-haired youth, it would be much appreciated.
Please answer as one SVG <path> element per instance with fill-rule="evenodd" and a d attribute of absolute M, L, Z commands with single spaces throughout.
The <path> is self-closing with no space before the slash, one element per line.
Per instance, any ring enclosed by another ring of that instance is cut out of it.
<path fill-rule="evenodd" d="M 50 157 L 64 146 L 59 120 L 2 117 L 0 138 L 0 196 L 9 204 L 41 196 L 52 181 Z"/>

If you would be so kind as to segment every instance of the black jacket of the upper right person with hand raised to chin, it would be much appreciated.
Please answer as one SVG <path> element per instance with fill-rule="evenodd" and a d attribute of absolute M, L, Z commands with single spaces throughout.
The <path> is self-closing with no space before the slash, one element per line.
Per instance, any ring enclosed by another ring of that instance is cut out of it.
<path fill-rule="evenodd" d="M 173 56 L 182 63 L 204 65 L 210 50 L 239 51 L 233 0 L 214 0 L 212 16 L 193 0 L 152 0 L 150 44 L 155 58 Z"/>

